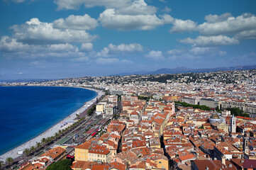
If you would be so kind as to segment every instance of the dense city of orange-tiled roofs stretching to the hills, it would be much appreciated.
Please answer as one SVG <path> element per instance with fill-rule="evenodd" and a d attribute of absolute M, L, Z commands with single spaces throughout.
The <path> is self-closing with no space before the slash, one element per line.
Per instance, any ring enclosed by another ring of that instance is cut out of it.
<path fill-rule="evenodd" d="M 115 116 L 104 133 L 74 148 L 74 170 L 256 169 L 255 80 L 254 69 L 24 84 L 84 86 L 109 94 L 95 114 Z M 250 116 L 232 115 L 230 108 Z"/>

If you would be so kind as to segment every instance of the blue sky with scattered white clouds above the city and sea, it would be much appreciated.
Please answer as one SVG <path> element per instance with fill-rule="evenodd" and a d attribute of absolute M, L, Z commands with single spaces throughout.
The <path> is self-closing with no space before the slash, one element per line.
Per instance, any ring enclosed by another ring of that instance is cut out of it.
<path fill-rule="evenodd" d="M 256 64 L 255 0 L 0 0 L 0 80 Z"/>

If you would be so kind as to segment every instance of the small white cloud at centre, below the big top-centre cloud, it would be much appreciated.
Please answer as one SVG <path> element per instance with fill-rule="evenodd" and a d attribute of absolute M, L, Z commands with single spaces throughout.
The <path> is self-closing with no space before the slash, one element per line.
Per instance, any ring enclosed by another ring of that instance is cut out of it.
<path fill-rule="evenodd" d="M 138 43 L 113 45 L 109 44 L 108 47 L 104 47 L 101 52 L 97 52 L 98 57 L 109 57 L 109 55 L 120 54 L 125 55 L 128 52 L 143 52 L 143 45 Z"/>

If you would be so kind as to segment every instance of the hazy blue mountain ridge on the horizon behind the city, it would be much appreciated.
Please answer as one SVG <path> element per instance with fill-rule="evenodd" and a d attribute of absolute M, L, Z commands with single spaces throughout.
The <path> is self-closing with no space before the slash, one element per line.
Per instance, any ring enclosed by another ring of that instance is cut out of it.
<path fill-rule="evenodd" d="M 256 69 L 256 64 L 245 65 L 245 66 L 234 66 L 234 67 L 216 67 L 216 68 L 205 68 L 205 69 L 191 69 L 187 67 L 176 67 L 174 69 L 157 69 L 153 72 L 131 72 L 131 73 L 121 73 L 112 76 L 124 76 L 132 74 L 177 74 L 177 73 L 203 73 L 203 72 L 220 72 L 220 71 L 233 71 L 233 70 L 243 70 L 243 69 Z"/>

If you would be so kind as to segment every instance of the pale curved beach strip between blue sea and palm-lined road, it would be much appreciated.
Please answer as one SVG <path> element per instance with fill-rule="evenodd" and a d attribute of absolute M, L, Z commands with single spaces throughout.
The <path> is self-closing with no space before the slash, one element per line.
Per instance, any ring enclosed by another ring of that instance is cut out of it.
<path fill-rule="evenodd" d="M 92 98 L 90 101 L 86 101 L 81 108 L 77 109 L 77 111 L 74 111 L 73 113 L 68 115 L 66 118 L 60 120 L 60 122 L 56 123 L 55 125 L 52 125 L 52 127 L 48 128 L 48 130 L 45 130 L 44 132 L 40 133 L 33 139 L 31 139 L 27 142 L 24 142 L 23 144 L 19 145 L 18 147 L 15 147 L 4 154 L 1 154 L 0 161 L 5 162 L 7 157 L 11 157 L 11 158 L 13 158 L 13 160 L 16 159 L 17 157 L 21 157 L 23 154 L 18 154 L 19 150 L 23 151 L 26 148 L 30 149 L 30 147 L 36 145 L 36 142 L 41 142 L 41 140 L 43 138 L 52 137 L 53 135 L 55 135 L 56 132 L 59 132 L 63 123 L 71 122 L 72 120 L 77 118 L 77 113 L 84 112 L 85 110 L 87 110 L 87 108 L 89 108 L 96 101 L 96 98 L 100 98 L 101 96 L 104 95 L 104 92 L 102 92 L 102 91 L 98 91 L 96 89 L 91 89 L 91 88 L 86 88 L 86 87 L 79 87 L 79 86 L 56 86 L 56 87 L 74 87 L 74 88 L 87 89 L 87 90 L 95 91 L 96 96 L 94 98 Z M 88 106 L 88 104 L 90 104 L 90 106 Z"/>

